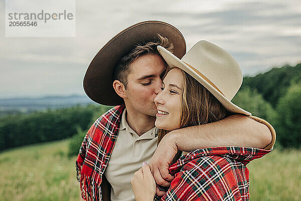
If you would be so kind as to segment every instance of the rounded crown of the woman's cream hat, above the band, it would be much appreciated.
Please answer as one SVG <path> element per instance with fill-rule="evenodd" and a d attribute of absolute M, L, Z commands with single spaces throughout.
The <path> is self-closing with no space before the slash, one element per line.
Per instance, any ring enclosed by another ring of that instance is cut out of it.
<path fill-rule="evenodd" d="M 208 41 L 196 43 L 181 59 L 209 79 L 231 100 L 242 84 L 242 72 L 233 56 Z"/>

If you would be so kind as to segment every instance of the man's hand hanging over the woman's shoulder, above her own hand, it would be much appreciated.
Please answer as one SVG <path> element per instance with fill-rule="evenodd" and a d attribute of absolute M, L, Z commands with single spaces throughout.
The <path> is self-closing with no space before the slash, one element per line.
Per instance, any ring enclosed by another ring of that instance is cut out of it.
<path fill-rule="evenodd" d="M 170 186 L 174 177 L 169 174 L 168 168 L 177 152 L 178 146 L 172 136 L 169 136 L 169 134 L 164 136 L 149 162 L 150 171 L 152 171 L 158 185 Z M 165 193 L 165 191 L 161 191 L 156 187 L 158 196 L 163 196 Z"/>

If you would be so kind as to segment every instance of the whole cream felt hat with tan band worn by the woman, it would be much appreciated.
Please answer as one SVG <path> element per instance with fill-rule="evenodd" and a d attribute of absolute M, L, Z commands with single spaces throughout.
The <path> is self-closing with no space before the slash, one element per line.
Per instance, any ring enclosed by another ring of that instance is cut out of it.
<path fill-rule="evenodd" d="M 232 113 L 251 113 L 231 102 L 242 83 L 242 72 L 231 54 L 208 41 L 196 43 L 180 60 L 162 46 L 158 50 L 168 65 L 182 69 L 206 87 Z"/>

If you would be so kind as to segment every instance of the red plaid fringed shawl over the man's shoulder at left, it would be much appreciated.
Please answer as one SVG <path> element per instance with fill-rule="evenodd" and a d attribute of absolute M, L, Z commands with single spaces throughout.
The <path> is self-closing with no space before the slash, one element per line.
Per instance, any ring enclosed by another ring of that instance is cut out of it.
<path fill-rule="evenodd" d="M 114 148 L 125 106 L 116 106 L 88 130 L 76 160 L 77 180 L 85 200 L 101 200 L 102 174 Z"/>

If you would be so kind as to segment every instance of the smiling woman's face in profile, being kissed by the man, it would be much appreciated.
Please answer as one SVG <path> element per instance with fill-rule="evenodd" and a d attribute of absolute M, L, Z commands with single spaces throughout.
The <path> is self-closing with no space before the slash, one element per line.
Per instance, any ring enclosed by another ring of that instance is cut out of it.
<path fill-rule="evenodd" d="M 179 68 L 173 68 L 164 78 L 162 90 L 155 97 L 157 128 L 168 131 L 180 128 L 183 82 L 184 77 Z"/>

